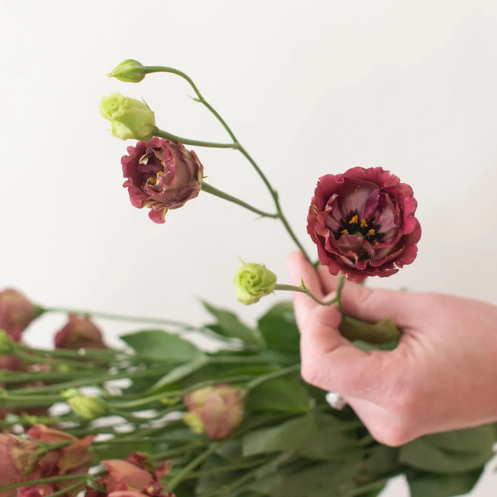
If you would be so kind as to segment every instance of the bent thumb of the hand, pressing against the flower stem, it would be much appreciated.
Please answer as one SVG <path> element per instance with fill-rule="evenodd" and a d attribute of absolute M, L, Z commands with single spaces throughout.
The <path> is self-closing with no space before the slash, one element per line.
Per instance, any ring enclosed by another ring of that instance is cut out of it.
<path fill-rule="evenodd" d="M 334 306 L 319 307 L 302 327 L 302 377 L 345 398 L 379 399 L 392 360 L 383 351 L 366 353 L 352 345 L 337 331 L 339 320 Z"/>

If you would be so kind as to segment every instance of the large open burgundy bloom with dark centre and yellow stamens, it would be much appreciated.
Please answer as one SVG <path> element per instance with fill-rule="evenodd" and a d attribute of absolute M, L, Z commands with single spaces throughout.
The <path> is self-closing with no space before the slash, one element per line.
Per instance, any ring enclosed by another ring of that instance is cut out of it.
<path fill-rule="evenodd" d="M 307 232 L 322 265 L 361 283 L 390 276 L 416 258 L 421 227 L 412 188 L 381 167 L 319 178 Z"/>

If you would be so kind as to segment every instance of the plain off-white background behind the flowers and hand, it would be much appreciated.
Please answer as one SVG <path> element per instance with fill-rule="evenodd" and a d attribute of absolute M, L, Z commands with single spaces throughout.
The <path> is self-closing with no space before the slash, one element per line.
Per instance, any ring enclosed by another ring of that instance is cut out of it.
<path fill-rule="evenodd" d="M 0 287 L 47 306 L 201 323 L 199 298 L 234 298 L 237 256 L 286 281 L 291 240 L 273 220 L 201 194 L 165 225 L 131 206 L 101 95 L 144 97 L 161 128 L 229 137 L 187 83 L 107 79 L 127 58 L 185 71 L 280 193 L 305 247 L 317 178 L 382 166 L 411 184 L 423 236 L 381 287 L 497 303 L 497 5 L 488 1 L 0 1 Z M 196 149 L 209 182 L 270 210 L 244 158 Z M 286 297 L 283 296 L 283 297 Z M 64 322 L 26 339 L 49 345 Z M 109 341 L 128 326 L 100 322 Z M 471 330 L 468 330 L 470 333 Z M 496 477 L 475 493 L 494 495 Z M 396 482 L 386 495 L 407 495 Z"/>

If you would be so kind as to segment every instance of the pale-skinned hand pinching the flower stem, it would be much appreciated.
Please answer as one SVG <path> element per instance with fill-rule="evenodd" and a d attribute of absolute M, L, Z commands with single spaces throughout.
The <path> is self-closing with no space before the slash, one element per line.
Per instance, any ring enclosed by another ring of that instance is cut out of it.
<path fill-rule="evenodd" d="M 287 258 L 292 284 L 321 300 L 337 277 L 300 253 Z M 293 293 L 301 333 L 302 377 L 339 392 L 379 442 L 403 445 L 419 436 L 497 421 L 497 307 L 433 293 L 373 290 L 346 281 L 345 314 L 402 329 L 393 351 L 362 352 L 337 331 L 336 305 Z"/>

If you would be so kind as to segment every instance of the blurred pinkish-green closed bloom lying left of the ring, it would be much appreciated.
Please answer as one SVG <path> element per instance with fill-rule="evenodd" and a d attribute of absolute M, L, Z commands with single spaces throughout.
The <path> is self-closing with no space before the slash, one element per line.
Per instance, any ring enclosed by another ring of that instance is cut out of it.
<path fill-rule="evenodd" d="M 213 440 L 227 437 L 242 422 L 244 402 L 239 388 L 228 385 L 202 388 L 185 395 L 184 403 L 200 418 Z"/>

